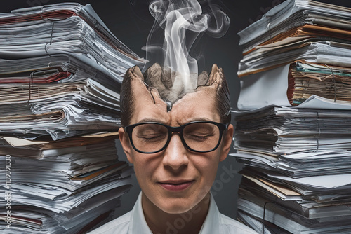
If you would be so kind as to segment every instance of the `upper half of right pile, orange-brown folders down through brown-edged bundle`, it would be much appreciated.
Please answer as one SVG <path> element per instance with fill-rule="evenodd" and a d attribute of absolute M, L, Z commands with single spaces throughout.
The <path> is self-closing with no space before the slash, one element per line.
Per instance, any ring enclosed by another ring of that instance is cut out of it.
<path fill-rule="evenodd" d="M 239 32 L 244 52 L 238 108 L 297 106 L 312 95 L 350 102 L 350 13 L 351 8 L 288 0 Z"/>

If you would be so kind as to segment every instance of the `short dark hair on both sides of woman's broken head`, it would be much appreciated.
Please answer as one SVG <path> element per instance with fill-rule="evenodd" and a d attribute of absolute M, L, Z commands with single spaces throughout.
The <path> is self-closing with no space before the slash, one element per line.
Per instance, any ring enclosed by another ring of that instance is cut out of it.
<path fill-rule="evenodd" d="M 121 85 L 120 105 L 122 127 L 128 126 L 130 124 L 130 120 L 133 115 L 134 97 L 131 88 L 131 76 L 133 74 L 133 71 L 134 68 L 130 68 L 128 69 L 128 71 L 126 71 Z M 232 119 L 230 113 L 230 91 L 222 69 L 219 69 L 219 74 L 220 83 L 218 84 L 216 92 L 216 109 L 218 111 L 218 114 L 220 115 L 220 122 L 229 124 Z M 140 77 L 140 79 L 144 81 L 143 76 Z"/>

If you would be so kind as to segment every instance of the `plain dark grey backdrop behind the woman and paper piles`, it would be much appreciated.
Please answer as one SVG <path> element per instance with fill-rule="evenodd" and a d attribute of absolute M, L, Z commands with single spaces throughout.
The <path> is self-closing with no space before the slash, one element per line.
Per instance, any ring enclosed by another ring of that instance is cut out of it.
<path fill-rule="evenodd" d="M 30 6 L 43 6 L 46 4 L 61 3 L 64 1 L 57 0 L 10 0 L 3 1 L 0 12 L 6 13 L 17 8 L 27 8 Z M 146 57 L 145 51 L 141 48 L 145 46 L 147 35 L 153 25 L 154 18 L 149 13 L 149 3 L 147 0 L 99 0 L 99 1 L 75 1 L 79 4 L 91 4 L 94 10 L 105 25 L 117 36 L 126 46 L 131 48 L 140 57 Z M 200 1 L 201 2 L 201 1 Z M 202 1 L 203 2 L 203 1 Z M 211 38 L 204 34 L 197 43 L 196 53 L 204 56 L 204 64 L 202 67 L 206 71 L 211 70 L 212 64 L 218 64 L 222 67 L 227 82 L 230 85 L 230 93 L 232 100 L 232 109 L 237 108 L 237 98 L 239 96 L 239 78 L 237 77 L 237 64 L 241 59 L 241 47 L 239 44 L 239 36 L 237 32 L 251 23 L 258 20 L 264 13 L 272 7 L 277 6 L 283 0 L 213 0 L 214 4 L 218 4 L 223 11 L 230 17 L 230 28 L 225 36 L 220 39 Z M 342 6 L 351 6 L 350 0 L 340 1 L 324 1 Z M 201 72 L 201 71 L 200 71 Z M 126 160 L 123 150 L 119 142 L 117 142 L 119 158 Z M 234 152 L 232 149 L 231 152 Z M 218 168 L 218 177 L 213 186 L 213 195 L 217 202 L 220 212 L 236 217 L 237 187 L 241 177 L 239 174 L 234 176 L 228 173 L 232 170 L 240 170 L 235 160 L 228 156 L 226 160 L 220 163 Z M 120 216 L 133 208 L 134 202 L 140 193 L 138 183 L 133 177 L 134 187 L 129 193 L 122 196 L 121 208 L 117 210 L 116 215 Z"/>

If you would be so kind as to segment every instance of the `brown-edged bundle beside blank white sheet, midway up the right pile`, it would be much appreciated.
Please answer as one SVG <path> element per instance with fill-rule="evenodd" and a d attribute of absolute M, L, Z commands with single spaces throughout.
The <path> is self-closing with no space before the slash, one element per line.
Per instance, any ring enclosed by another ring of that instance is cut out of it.
<path fill-rule="evenodd" d="M 244 76 L 237 106 L 240 110 L 268 104 L 321 109 L 327 103 L 336 103 L 330 107 L 347 109 L 345 106 L 351 104 L 350 71 L 347 67 L 294 62 Z"/>

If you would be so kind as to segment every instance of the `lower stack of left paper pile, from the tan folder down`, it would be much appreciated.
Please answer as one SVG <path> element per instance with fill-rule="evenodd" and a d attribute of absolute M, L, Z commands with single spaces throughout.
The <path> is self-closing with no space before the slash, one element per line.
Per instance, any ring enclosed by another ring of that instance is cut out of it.
<path fill-rule="evenodd" d="M 116 132 L 50 142 L 1 137 L 0 163 L 11 162 L 11 183 L 1 185 L 1 193 L 11 194 L 11 207 L 0 203 L 0 219 L 6 221 L 10 211 L 11 226 L 1 225 L 1 233 L 79 233 L 112 215 L 131 188 L 133 172 L 117 158 L 117 137 Z"/>

